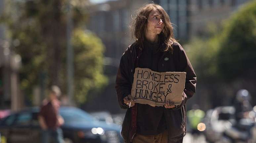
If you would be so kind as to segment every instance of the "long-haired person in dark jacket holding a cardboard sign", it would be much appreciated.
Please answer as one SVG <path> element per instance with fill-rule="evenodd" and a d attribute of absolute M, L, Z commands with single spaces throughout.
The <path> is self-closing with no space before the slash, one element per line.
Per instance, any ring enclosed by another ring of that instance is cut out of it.
<path fill-rule="evenodd" d="M 175 40 L 169 16 L 161 6 L 142 7 L 132 28 L 136 41 L 122 55 L 116 76 L 118 102 L 127 109 L 121 134 L 126 143 L 182 143 L 186 135 L 186 102 L 195 93 L 192 65 Z M 176 106 L 172 101 L 163 107 L 135 104 L 131 88 L 136 67 L 156 72 L 186 72 L 181 105 Z"/>

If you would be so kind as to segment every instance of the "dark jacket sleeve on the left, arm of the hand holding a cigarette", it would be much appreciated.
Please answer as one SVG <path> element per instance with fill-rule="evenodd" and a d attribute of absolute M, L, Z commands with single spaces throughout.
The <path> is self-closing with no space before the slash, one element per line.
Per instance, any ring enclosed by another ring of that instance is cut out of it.
<path fill-rule="evenodd" d="M 123 109 L 127 109 L 129 106 L 123 103 L 124 97 L 131 94 L 131 81 L 130 75 L 132 73 L 132 69 L 129 69 L 129 60 L 127 58 L 127 53 L 124 53 L 121 57 L 120 64 L 118 67 L 116 81 L 115 81 L 115 89 L 117 94 L 117 99 L 119 106 Z"/>

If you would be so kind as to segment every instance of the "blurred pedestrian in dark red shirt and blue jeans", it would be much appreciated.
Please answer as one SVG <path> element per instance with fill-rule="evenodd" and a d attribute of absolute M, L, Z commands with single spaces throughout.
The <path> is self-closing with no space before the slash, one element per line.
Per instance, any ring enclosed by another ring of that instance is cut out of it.
<path fill-rule="evenodd" d="M 59 114 L 60 101 L 58 98 L 61 90 L 58 86 L 51 86 L 48 99 L 43 101 L 40 109 L 38 120 L 42 128 L 42 143 L 50 143 L 53 139 L 54 143 L 63 143 L 63 132 L 60 128 L 64 124 L 64 119 Z"/>

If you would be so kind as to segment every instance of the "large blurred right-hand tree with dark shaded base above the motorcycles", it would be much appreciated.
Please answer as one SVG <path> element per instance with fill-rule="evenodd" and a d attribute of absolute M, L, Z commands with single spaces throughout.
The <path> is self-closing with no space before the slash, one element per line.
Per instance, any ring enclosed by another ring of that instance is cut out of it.
<path fill-rule="evenodd" d="M 231 104 L 241 88 L 256 94 L 255 7 L 256 1 L 243 5 L 222 26 L 211 25 L 211 37 L 195 38 L 184 46 L 198 79 L 196 96 L 209 99 L 205 107 Z"/>

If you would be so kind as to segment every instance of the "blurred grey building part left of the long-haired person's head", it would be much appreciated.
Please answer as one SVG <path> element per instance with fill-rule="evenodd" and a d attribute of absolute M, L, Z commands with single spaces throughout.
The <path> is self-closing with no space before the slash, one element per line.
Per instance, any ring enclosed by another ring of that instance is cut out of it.
<path fill-rule="evenodd" d="M 91 6 L 87 29 L 96 33 L 106 46 L 106 57 L 119 60 L 132 43 L 129 25 L 131 15 L 147 0 L 117 0 Z"/>

